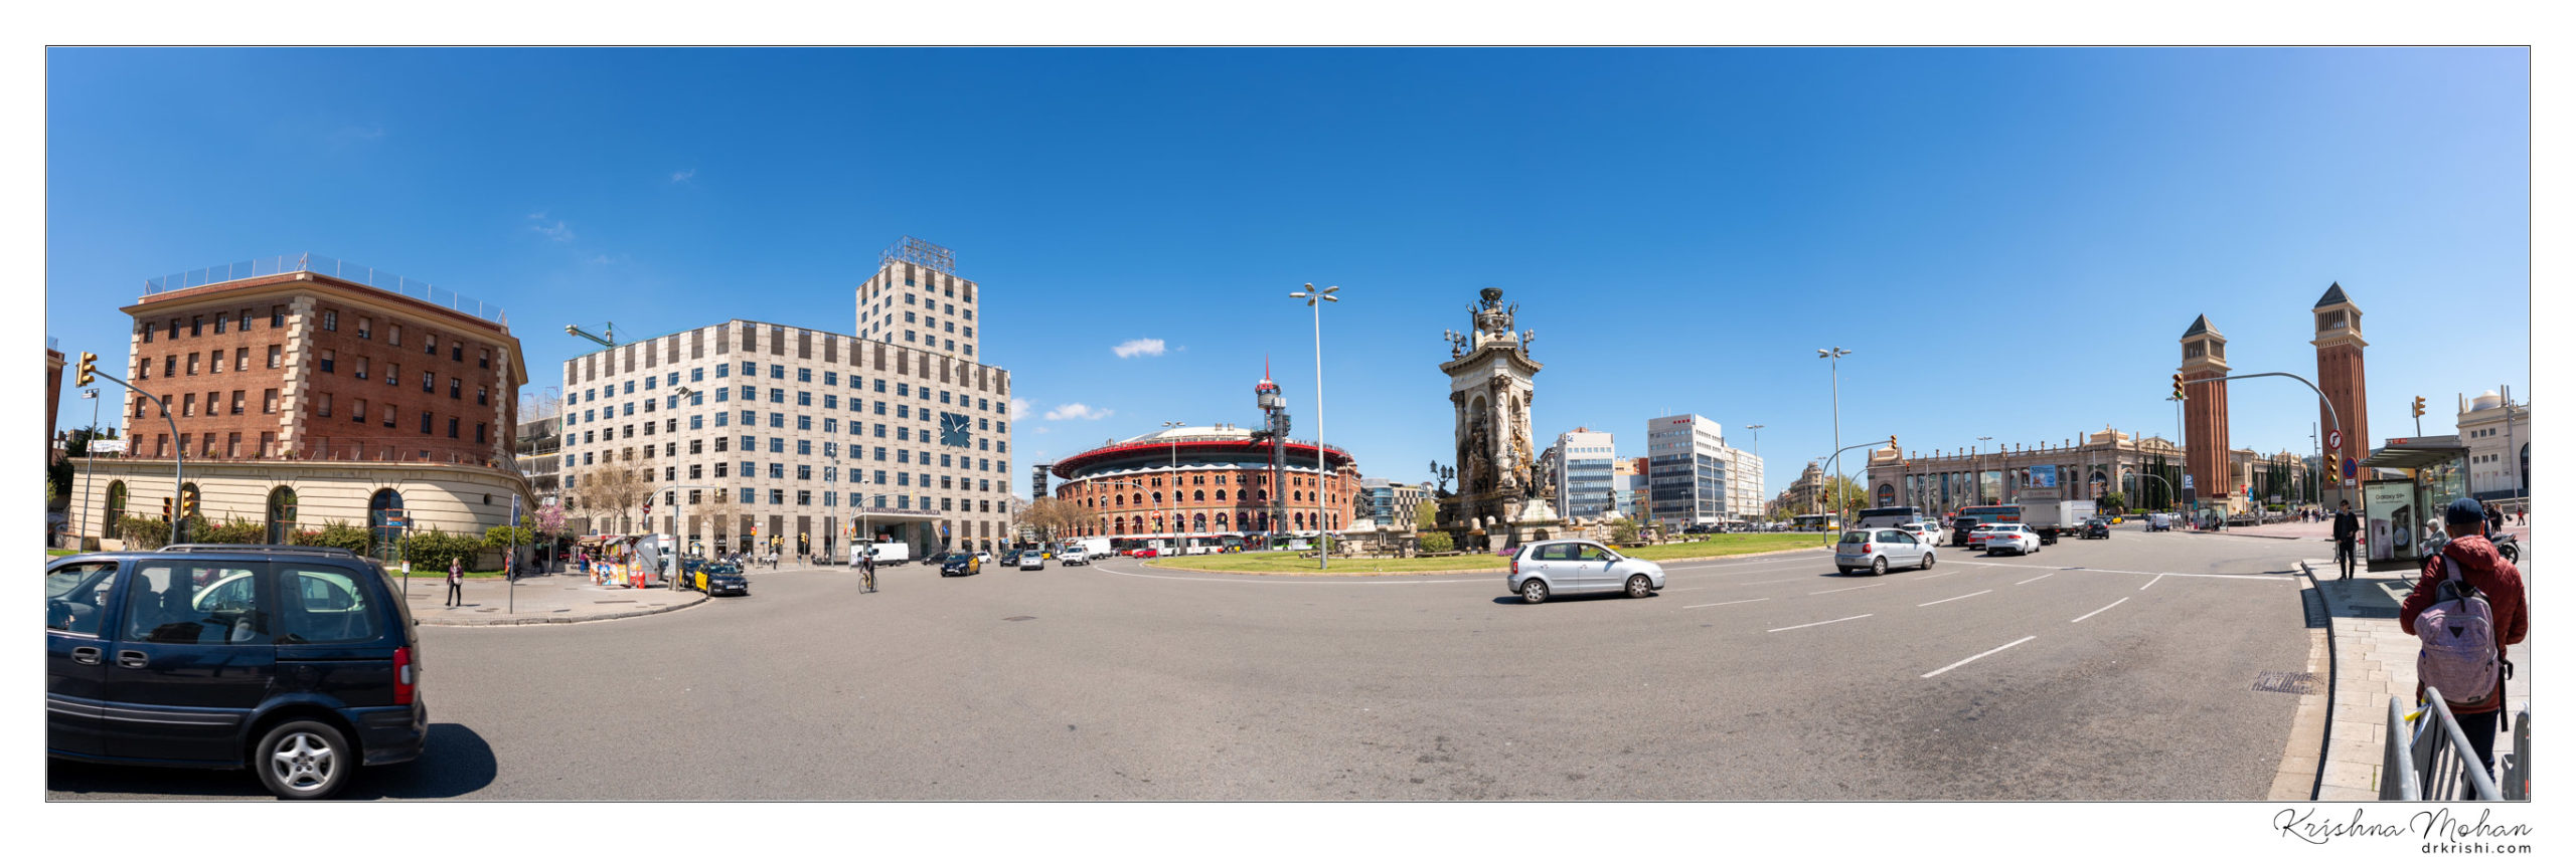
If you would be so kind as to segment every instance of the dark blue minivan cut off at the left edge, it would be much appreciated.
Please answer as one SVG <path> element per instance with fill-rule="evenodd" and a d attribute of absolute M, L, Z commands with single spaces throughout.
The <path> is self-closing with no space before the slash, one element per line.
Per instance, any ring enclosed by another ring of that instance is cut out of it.
<path fill-rule="evenodd" d="M 44 566 L 44 746 L 80 762 L 250 767 L 330 798 L 420 757 L 410 605 L 345 548 L 170 546 Z"/>

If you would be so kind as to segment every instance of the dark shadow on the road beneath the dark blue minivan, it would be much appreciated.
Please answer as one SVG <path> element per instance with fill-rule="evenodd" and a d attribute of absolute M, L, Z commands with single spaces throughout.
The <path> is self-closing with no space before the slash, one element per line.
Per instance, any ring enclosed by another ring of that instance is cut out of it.
<path fill-rule="evenodd" d="M 430 723 L 430 746 L 420 759 L 386 767 L 361 767 L 335 800 L 435 800 L 461 798 L 492 785 L 500 762 L 492 744 L 456 723 Z M 126 767 L 46 759 L 44 788 L 54 793 L 139 798 L 270 798 L 250 769 Z"/>

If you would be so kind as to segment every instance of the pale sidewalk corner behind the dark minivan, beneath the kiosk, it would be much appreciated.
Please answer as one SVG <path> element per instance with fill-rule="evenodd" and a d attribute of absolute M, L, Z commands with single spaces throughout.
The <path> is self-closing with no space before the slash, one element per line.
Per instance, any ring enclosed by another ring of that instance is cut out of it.
<path fill-rule="evenodd" d="M 394 582 L 402 587 L 399 574 Z M 703 592 L 672 592 L 659 584 L 644 589 L 592 587 L 587 574 L 520 576 L 515 592 L 510 582 L 497 576 L 466 579 L 464 607 L 446 605 L 446 574 L 412 574 L 410 592 L 404 597 L 412 605 L 412 618 L 422 625 L 598 623 L 696 607 L 706 600 Z"/>

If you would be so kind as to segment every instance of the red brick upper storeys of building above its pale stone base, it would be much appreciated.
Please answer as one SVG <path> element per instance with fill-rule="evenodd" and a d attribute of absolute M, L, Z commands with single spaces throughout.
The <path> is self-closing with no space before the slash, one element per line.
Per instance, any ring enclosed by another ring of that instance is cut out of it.
<path fill-rule="evenodd" d="M 129 394 L 129 456 L 510 461 L 526 365 L 502 324 L 317 273 L 157 293 L 124 311 L 126 376 L 165 394 L 178 419 L 170 438 L 160 409 Z"/>

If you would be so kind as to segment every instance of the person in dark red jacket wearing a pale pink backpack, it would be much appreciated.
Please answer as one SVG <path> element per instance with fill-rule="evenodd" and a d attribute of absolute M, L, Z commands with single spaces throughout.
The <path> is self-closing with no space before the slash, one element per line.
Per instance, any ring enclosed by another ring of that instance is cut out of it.
<path fill-rule="evenodd" d="M 2398 625 L 2424 649 L 2416 654 L 2416 695 L 2442 690 L 2468 746 L 2494 769 L 2496 728 L 2504 723 L 2504 679 L 2514 674 L 2506 646 L 2532 631 L 2522 597 L 2522 571 L 2486 540 L 2486 510 L 2460 497 L 2442 510 L 2450 543 L 2424 561 L 2414 592 L 2398 605 Z"/>

